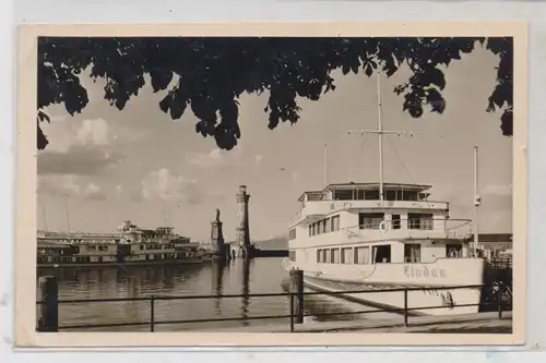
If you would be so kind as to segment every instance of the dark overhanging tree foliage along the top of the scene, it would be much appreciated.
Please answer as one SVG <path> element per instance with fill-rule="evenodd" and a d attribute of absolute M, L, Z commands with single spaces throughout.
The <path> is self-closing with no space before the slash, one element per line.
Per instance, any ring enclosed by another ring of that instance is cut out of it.
<path fill-rule="evenodd" d="M 63 104 L 70 114 L 88 102 L 80 74 L 106 80 L 105 99 L 122 110 L 151 76 L 155 93 L 167 90 L 162 111 L 179 119 L 188 108 L 199 119 L 195 131 L 213 136 L 230 149 L 240 137 L 238 124 L 242 93 L 269 92 L 264 111 L 269 128 L 295 123 L 297 98 L 318 100 L 335 89 L 332 71 L 343 74 L 378 69 L 388 76 L 408 64 L 410 80 L 394 92 L 403 109 L 419 118 L 424 107 L 443 112 L 446 87 L 442 66 L 461 59 L 482 44 L 499 57 L 497 83 L 484 100 L 488 111 L 503 109 L 500 129 L 512 134 L 512 38 L 51 38 L 38 41 L 37 147 L 48 144 L 40 122 L 44 109 Z M 176 75 L 176 77 L 175 77 Z M 177 80 L 171 86 L 173 81 Z M 470 85 L 472 86 L 472 85 Z"/>

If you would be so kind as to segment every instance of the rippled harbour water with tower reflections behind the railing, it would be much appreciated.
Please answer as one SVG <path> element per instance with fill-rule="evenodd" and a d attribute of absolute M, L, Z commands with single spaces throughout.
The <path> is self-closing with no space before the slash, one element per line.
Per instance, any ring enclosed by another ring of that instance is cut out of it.
<path fill-rule="evenodd" d="M 202 265 L 123 267 L 102 269 L 41 269 L 38 275 L 54 275 L 59 281 L 59 298 L 99 299 L 151 295 L 241 294 L 241 298 L 158 300 L 154 303 L 155 322 L 286 315 L 287 297 L 251 298 L 252 293 L 286 292 L 288 273 L 281 258 L 254 258 L 215 262 Z M 306 297 L 310 314 L 346 311 L 346 302 L 333 298 Z M 363 310 L 361 305 L 359 308 Z M 373 314 L 375 315 L 375 314 Z M 354 318 L 352 315 L 318 317 Z M 59 325 L 150 322 L 150 301 L 61 304 Z M 248 325 L 286 324 L 287 318 L 238 322 L 161 324 L 156 331 L 229 328 Z M 150 327 L 96 328 L 93 330 L 146 331 Z"/>

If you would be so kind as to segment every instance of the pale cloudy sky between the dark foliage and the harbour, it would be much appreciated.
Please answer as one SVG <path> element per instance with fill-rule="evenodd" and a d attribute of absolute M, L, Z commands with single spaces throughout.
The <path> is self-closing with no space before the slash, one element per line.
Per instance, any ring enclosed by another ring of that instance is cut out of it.
<path fill-rule="evenodd" d="M 512 140 L 502 136 L 500 111 L 486 112 L 498 60 L 477 48 L 446 70 L 443 114 L 413 119 L 402 111 L 403 96 L 393 88 L 407 81 L 401 69 L 381 76 L 384 130 L 424 132 L 390 135 L 383 142 L 384 181 L 432 185 L 430 199 L 450 203 L 452 218 L 472 218 L 474 159 L 479 149 L 479 230 L 512 230 Z M 174 227 L 194 240 L 206 240 L 219 208 L 226 239 L 235 239 L 236 193 L 250 193 L 251 239 L 287 233 L 304 191 L 328 181 L 377 182 L 378 141 L 347 134 L 376 129 L 377 75 L 336 72 L 335 92 L 319 101 L 300 99 L 300 120 L 268 129 L 268 94 L 240 99 L 241 138 L 229 152 L 195 133 L 188 111 L 177 121 L 161 111 L 165 93 L 146 85 L 119 111 L 104 99 L 104 81 L 82 75 L 90 104 L 74 117 L 62 105 L 46 110 L 43 123 L 50 144 L 38 152 L 38 228 L 112 232 L 123 220 L 143 228 Z"/>

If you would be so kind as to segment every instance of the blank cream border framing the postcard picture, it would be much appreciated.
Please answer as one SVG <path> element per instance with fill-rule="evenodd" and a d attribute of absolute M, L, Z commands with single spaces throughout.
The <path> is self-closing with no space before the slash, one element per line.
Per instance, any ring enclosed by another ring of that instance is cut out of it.
<path fill-rule="evenodd" d="M 513 285 L 511 335 L 242 334 L 35 331 L 36 55 L 38 36 L 513 36 Z M 15 346 L 23 347 L 278 347 L 509 346 L 525 343 L 527 242 L 527 28 L 522 22 L 214 23 L 22 25 L 17 49 L 15 219 Z M 32 119 L 32 122 L 31 122 Z"/>

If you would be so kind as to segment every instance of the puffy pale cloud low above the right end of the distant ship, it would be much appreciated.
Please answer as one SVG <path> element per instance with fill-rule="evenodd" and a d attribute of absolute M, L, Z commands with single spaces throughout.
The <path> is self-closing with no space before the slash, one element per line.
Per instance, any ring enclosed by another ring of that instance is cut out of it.
<path fill-rule="evenodd" d="M 161 198 L 189 204 L 199 204 L 206 197 L 197 181 L 175 176 L 166 168 L 150 172 L 142 181 L 142 195 L 146 199 Z"/>

